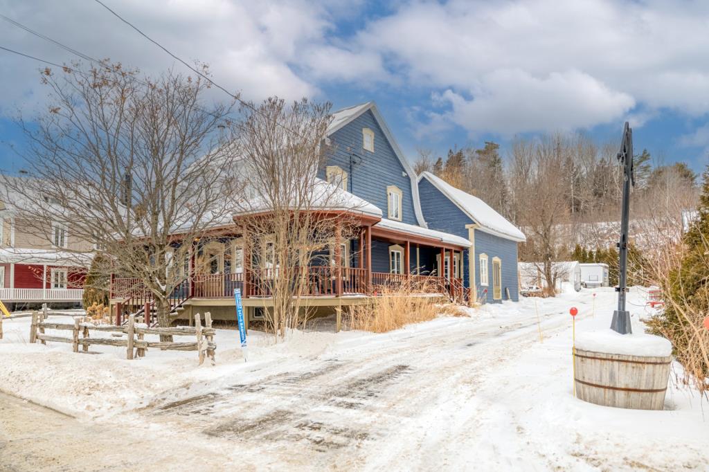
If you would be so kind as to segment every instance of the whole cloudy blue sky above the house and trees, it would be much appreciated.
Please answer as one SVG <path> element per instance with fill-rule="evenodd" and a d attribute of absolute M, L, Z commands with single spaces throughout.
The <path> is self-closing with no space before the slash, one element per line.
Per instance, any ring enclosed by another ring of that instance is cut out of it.
<path fill-rule="evenodd" d="M 104 0 L 247 99 L 374 100 L 408 156 L 556 131 L 709 163 L 709 2 Z M 92 57 L 147 73 L 180 64 L 94 0 L 0 0 L 0 13 Z M 0 46 L 75 57 L 0 19 Z M 43 108 L 42 64 L 0 50 L 0 169 L 11 118 Z M 215 98 L 222 99 L 215 95 Z"/>

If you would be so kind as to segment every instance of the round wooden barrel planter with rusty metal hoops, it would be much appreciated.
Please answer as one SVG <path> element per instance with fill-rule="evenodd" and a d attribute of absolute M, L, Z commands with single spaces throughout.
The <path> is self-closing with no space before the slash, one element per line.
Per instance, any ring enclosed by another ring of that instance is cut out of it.
<path fill-rule="evenodd" d="M 574 348 L 576 396 L 596 405 L 662 410 L 672 356 L 609 354 Z"/>

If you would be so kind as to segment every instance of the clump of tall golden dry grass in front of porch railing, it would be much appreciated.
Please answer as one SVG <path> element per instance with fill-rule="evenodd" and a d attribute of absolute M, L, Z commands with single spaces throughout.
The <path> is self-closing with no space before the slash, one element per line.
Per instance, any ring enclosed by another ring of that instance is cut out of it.
<path fill-rule="evenodd" d="M 467 316 L 458 305 L 440 305 L 439 297 L 421 296 L 425 288 L 420 283 L 382 288 L 379 293 L 379 296 L 372 297 L 367 303 L 352 307 L 348 323 L 351 329 L 387 332 L 411 323 L 432 320 L 441 313 L 447 316 Z"/>

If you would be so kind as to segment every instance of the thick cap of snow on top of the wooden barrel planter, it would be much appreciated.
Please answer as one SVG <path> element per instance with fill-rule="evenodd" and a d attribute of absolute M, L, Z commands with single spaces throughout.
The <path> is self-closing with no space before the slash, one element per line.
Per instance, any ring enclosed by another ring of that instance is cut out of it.
<path fill-rule="evenodd" d="M 610 329 L 581 333 L 576 336 L 576 349 L 627 356 L 664 357 L 672 354 L 672 344 L 664 337 L 642 332 L 620 335 Z"/>

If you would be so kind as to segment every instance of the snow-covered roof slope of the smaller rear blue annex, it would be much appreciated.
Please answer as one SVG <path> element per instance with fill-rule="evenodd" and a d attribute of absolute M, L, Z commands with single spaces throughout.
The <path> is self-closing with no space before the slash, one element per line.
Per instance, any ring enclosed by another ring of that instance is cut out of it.
<path fill-rule="evenodd" d="M 481 231 L 517 242 L 525 242 L 527 240 L 527 237 L 525 237 L 524 233 L 521 232 L 518 227 L 510 223 L 503 215 L 497 213 L 480 198 L 472 196 L 460 189 L 456 189 L 451 184 L 448 184 L 446 181 L 430 172 L 423 172 L 423 174 L 418 177 L 418 180 L 420 181 L 423 178 L 428 179 L 428 181 L 447 196 L 450 201 L 474 220 L 475 223 L 478 223 Z"/>

